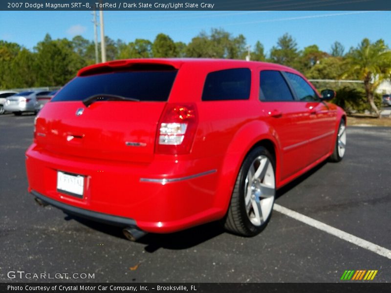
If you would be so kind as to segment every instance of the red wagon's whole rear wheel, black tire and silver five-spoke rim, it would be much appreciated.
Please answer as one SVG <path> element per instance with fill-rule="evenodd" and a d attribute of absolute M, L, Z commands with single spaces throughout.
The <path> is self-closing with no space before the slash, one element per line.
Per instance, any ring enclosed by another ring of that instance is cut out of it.
<path fill-rule="evenodd" d="M 242 236 L 260 233 L 270 220 L 276 191 L 275 162 L 263 146 L 243 161 L 224 227 Z"/>

